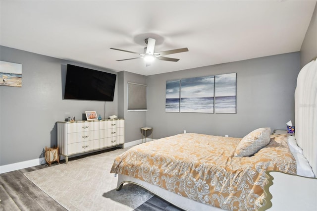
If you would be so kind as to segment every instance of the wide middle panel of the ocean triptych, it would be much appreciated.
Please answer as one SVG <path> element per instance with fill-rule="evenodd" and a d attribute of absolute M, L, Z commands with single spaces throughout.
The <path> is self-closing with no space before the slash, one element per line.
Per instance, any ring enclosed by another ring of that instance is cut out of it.
<path fill-rule="evenodd" d="M 181 79 L 180 87 L 180 112 L 213 113 L 213 75 Z"/>

